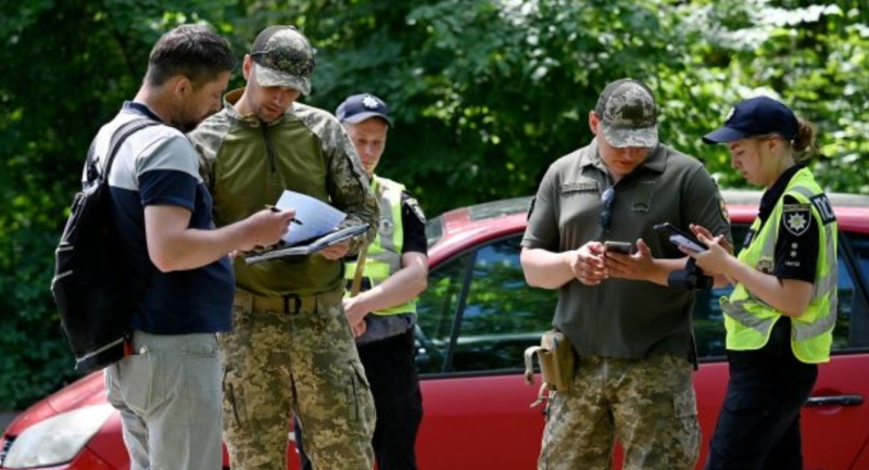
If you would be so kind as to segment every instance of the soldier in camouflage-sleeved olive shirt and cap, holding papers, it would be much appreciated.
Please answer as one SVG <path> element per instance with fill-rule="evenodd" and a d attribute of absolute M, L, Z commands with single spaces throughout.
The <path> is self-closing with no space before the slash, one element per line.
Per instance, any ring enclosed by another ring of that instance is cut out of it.
<path fill-rule="evenodd" d="M 373 466 L 375 409 L 341 303 L 341 258 L 374 238 L 379 207 L 341 124 L 295 102 L 311 91 L 313 68 L 304 36 L 292 27 L 266 28 L 244 56 L 245 88 L 227 93 L 223 111 L 190 134 L 217 226 L 274 204 L 290 189 L 345 212 L 341 227 L 371 227 L 305 257 L 235 261 L 235 332 L 219 339 L 234 469 L 286 469 L 293 409 L 316 468 Z"/>

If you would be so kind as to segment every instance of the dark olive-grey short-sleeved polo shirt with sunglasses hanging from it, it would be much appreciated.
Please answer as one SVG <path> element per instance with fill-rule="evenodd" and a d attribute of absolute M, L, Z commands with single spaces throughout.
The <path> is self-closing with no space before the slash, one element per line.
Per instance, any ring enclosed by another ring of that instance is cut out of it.
<path fill-rule="evenodd" d="M 689 230 L 700 224 L 714 234 L 730 223 L 713 178 L 695 158 L 658 144 L 646 161 L 615 186 L 597 152 L 597 141 L 550 166 L 529 211 L 522 246 L 561 253 L 589 241 L 643 239 L 655 258 L 685 257 L 656 224 Z M 600 223 L 602 194 L 615 190 L 608 233 Z M 688 357 L 694 294 L 651 281 L 606 279 L 561 287 L 553 326 L 580 355 L 641 358 L 652 353 Z"/>

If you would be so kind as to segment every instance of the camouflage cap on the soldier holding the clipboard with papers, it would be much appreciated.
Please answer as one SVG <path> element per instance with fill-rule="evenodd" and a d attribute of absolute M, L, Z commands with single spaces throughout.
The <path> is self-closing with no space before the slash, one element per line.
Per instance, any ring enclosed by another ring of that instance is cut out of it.
<path fill-rule="evenodd" d="M 263 87 L 290 87 L 311 93 L 314 48 L 293 26 L 263 29 L 251 48 L 253 74 Z"/>

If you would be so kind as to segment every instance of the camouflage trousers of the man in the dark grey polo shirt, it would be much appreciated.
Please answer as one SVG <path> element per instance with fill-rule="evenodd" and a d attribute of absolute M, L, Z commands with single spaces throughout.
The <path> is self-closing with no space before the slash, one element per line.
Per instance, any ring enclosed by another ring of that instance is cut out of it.
<path fill-rule="evenodd" d="M 540 470 L 610 469 L 616 439 L 625 470 L 694 467 L 701 435 L 687 359 L 583 356 L 578 363 L 570 389 L 554 393 L 549 405 Z"/>

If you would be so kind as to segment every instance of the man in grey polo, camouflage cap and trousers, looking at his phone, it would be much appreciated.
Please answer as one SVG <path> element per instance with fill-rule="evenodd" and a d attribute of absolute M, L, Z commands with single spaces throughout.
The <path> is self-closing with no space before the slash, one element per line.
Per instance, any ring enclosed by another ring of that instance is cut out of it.
<path fill-rule="evenodd" d="M 608 469 L 618 439 L 626 470 L 689 470 L 700 452 L 694 295 L 667 288 L 687 258 L 653 226 L 704 220 L 729 238 L 729 223 L 703 165 L 658 143 L 645 85 L 607 86 L 589 126 L 595 139 L 546 172 L 522 239 L 526 279 L 559 289 L 553 326 L 579 355 L 550 403 L 538 467 Z M 635 241 L 635 252 L 607 253 L 605 241 Z"/>

